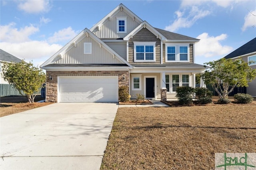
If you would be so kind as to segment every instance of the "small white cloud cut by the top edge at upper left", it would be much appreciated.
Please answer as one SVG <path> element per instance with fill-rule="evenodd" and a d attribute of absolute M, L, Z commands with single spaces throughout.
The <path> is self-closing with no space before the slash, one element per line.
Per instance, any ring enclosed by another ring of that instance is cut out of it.
<path fill-rule="evenodd" d="M 49 0 L 24 0 L 18 4 L 18 8 L 27 13 L 48 12 L 50 10 Z"/>

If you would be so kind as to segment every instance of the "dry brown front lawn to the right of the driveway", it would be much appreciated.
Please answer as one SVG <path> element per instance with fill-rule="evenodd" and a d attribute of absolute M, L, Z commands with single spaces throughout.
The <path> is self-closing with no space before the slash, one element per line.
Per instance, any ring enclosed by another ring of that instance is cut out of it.
<path fill-rule="evenodd" d="M 218 152 L 256 152 L 256 101 L 119 108 L 101 169 L 213 170 Z"/>

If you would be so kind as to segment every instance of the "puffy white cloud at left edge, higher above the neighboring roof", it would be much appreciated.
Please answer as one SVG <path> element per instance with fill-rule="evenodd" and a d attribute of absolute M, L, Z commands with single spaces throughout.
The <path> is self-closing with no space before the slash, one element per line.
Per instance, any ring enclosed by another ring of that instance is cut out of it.
<path fill-rule="evenodd" d="M 29 41 L 29 36 L 38 32 L 39 28 L 33 25 L 25 26 L 19 30 L 15 27 L 15 23 L 9 23 L 8 25 L 0 25 L 0 39 L 2 42 L 24 42 Z"/>

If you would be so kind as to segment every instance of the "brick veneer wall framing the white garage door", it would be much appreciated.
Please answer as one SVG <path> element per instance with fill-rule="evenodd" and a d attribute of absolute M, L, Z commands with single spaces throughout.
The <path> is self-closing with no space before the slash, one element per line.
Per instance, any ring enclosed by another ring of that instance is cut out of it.
<path fill-rule="evenodd" d="M 129 71 L 46 71 L 46 76 L 46 102 L 58 102 L 58 76 L 118 76 L 119 87 L 129 86 Z"/>

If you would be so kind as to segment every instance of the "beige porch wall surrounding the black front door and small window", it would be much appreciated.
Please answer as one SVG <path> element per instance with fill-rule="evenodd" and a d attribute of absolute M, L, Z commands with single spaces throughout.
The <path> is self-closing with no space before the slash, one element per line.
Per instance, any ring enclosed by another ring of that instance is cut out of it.
<path fill-rule="evenodd" d="M 136 74 L 140 74 L 140 73 L 136 73 Z M 156 76 L 156 95 L 158 94 L 161 94 L 161 85 L 160 85 L 160 73 L 143 73 L 141 75 L 141 90 L 132 90 L 132 74 L 130 74 L 130 95 L 131 95 L 131 99 L 136 99 L 137 96 L 136 94 L 139 93 L 139 94 L 143 94 L 144 96 L 146 94 L 144 94 L 144 85 L 145 85 L 145 82 L 144 82 L 144 76 Z"/>

